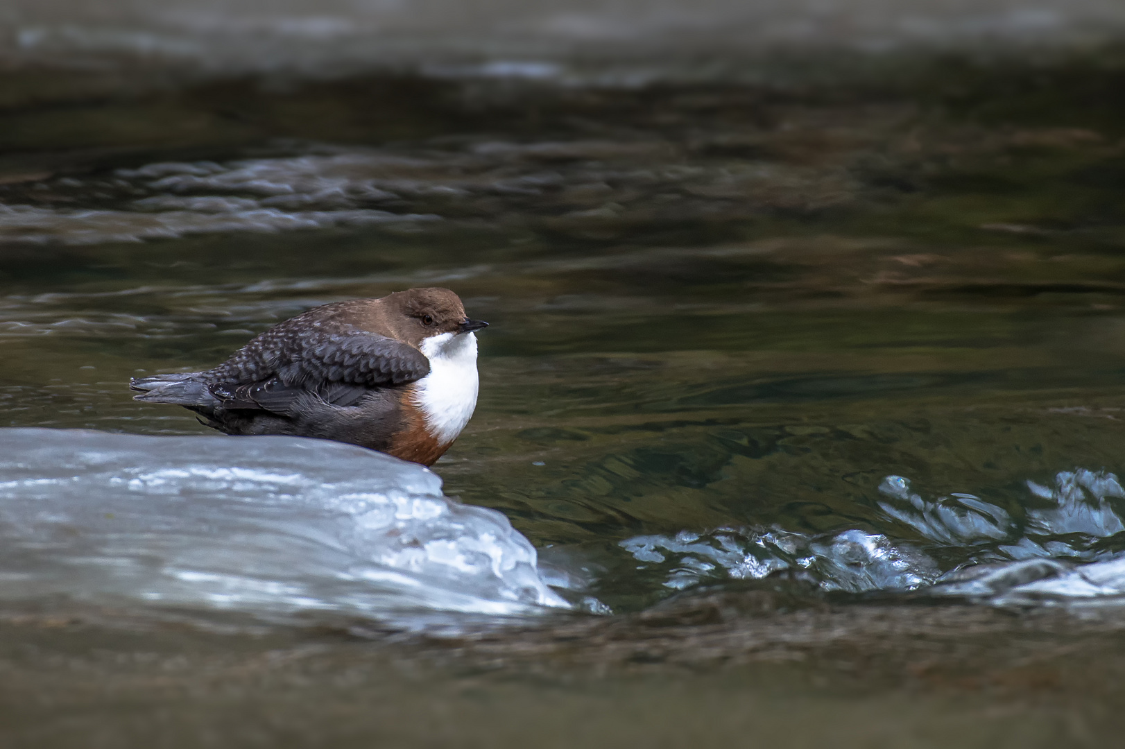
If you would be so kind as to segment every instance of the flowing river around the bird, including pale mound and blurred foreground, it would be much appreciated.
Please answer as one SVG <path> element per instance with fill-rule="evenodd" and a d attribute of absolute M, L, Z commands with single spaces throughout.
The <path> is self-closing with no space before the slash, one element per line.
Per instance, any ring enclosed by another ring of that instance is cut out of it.
<path fill-rule="evenodd" d="M 8 746 L 1112 742 L 1123 70 L 14 67 Z M 129 397 L 411 286 L 433 473 Z"/>

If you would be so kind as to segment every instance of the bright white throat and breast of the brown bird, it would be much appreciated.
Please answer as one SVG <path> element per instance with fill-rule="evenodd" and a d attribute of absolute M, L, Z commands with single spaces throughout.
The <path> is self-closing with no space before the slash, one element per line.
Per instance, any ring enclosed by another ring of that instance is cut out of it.
<path fill-rule="evenodd" d="M 430 434 L 449 444 L 477 407 L 477 336 L 442 333 L 423 341 L 420 349 L 430 360 L 430 373 L 414 386 L 415 399 Z"/>

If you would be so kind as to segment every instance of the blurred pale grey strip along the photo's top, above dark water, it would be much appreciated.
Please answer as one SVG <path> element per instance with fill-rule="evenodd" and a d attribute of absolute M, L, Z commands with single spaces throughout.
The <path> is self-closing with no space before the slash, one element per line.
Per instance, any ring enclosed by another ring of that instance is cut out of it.
<path fill-rule="evenodd" d="M 332 69 L 1089 44 L 1125 28 L 1113 0 L 9 0 L 2 54 L 130 54 L 208 70 Z M 525 73 L 536 74 L 528 69 Z"/>

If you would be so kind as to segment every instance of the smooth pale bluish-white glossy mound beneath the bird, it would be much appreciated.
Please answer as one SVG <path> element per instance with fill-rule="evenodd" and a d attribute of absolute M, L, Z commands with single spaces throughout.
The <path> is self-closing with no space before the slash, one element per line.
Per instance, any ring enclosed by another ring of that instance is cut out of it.
<path fill-rule="evenodd" d="M 442 496 L 421 466 L 352 445 L 0 430 L 9 604 L 432 629 L 436 614 L 568 607 L 536 562 L 503 514 Z"/>

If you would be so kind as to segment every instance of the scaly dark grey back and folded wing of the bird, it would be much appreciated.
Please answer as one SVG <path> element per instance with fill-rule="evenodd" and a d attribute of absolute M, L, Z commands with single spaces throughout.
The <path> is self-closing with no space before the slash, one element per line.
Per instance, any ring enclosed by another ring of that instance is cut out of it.
<path fill-rule="evenodd" d="M 297 330 L 285 324 L 258 336 L 208 372 L 225 408 L 288 414 L 316 397 L 349 406 L 370 390 L 405 385 L 430 373 L 421 351 L 354 328 Z"/>

